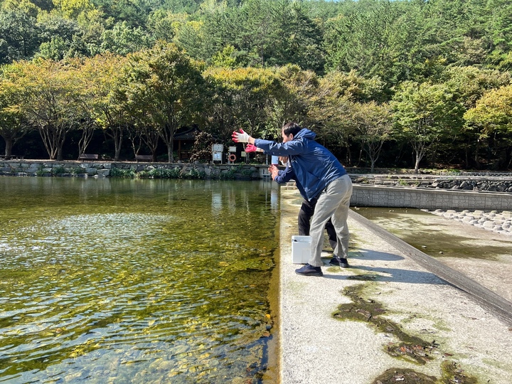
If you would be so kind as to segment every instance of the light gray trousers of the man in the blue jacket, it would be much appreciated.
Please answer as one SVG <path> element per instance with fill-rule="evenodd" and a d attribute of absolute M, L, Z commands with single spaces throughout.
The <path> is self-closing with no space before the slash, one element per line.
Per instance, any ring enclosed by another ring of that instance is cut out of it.
<path fill-rule="evenodd" d="M 321 251 L 324 248 L 324 228 L 327 220 L 331 221 L 336 230 L 338 243 L 334 249 L 334 255 L 346 258 L 348 255 L 348 232 L 347 218 L 348 207 L 352 196 L 352 181 L 350 176 L 345 175 L 331 181 L 328 186 L 321 191 L 313 217 L 311 218 L 311 257 L 309 265 L 321 267 L 324 262 L 321 260 Z"/>

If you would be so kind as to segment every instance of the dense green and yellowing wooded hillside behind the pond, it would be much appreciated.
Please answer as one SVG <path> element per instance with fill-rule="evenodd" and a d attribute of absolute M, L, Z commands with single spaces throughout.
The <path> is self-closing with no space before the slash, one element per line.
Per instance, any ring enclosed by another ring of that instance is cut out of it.
<path fill-rule="evenodd" d="M 6 154 L 37 129 L 50 158 L 172 161 L 180 129 L 226 144 L 293 119 L 350 166 L 511 166 L 509 1 L 0 4 Z"/>

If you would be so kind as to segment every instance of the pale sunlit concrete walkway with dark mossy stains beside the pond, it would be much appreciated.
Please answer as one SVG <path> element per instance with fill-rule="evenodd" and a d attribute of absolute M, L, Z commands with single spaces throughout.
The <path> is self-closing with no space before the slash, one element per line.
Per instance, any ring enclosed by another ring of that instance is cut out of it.
<path fill-rule="evenodd" d="M 420 375 L 427 380 L 421 383 L 512 383 L 508 309 L 500 312 L 454 287 L 422 267 L 429 259 L 418 263 L 385 231 L 363 225 L 355 215 L 349 218 L 351 268 L 326 265 L 323 277 L 295 274 L 300 265 L 292 264 L 291 238 L 300 203 L 297 190 L 282 188 L 282 384 L 420 383 L 412 379 Z M 486 234 L 482 230 L 483 242 Z M 354 300 L 361 302 L 347 312 Z M 338 311 L 340 305 L 345 306 Z M 342 319 L 334 317 L 337 311 Z M 363 321 L 343 320 L 354 315 Z M 459 381 L 448 381 L 446 368 Z"/>

